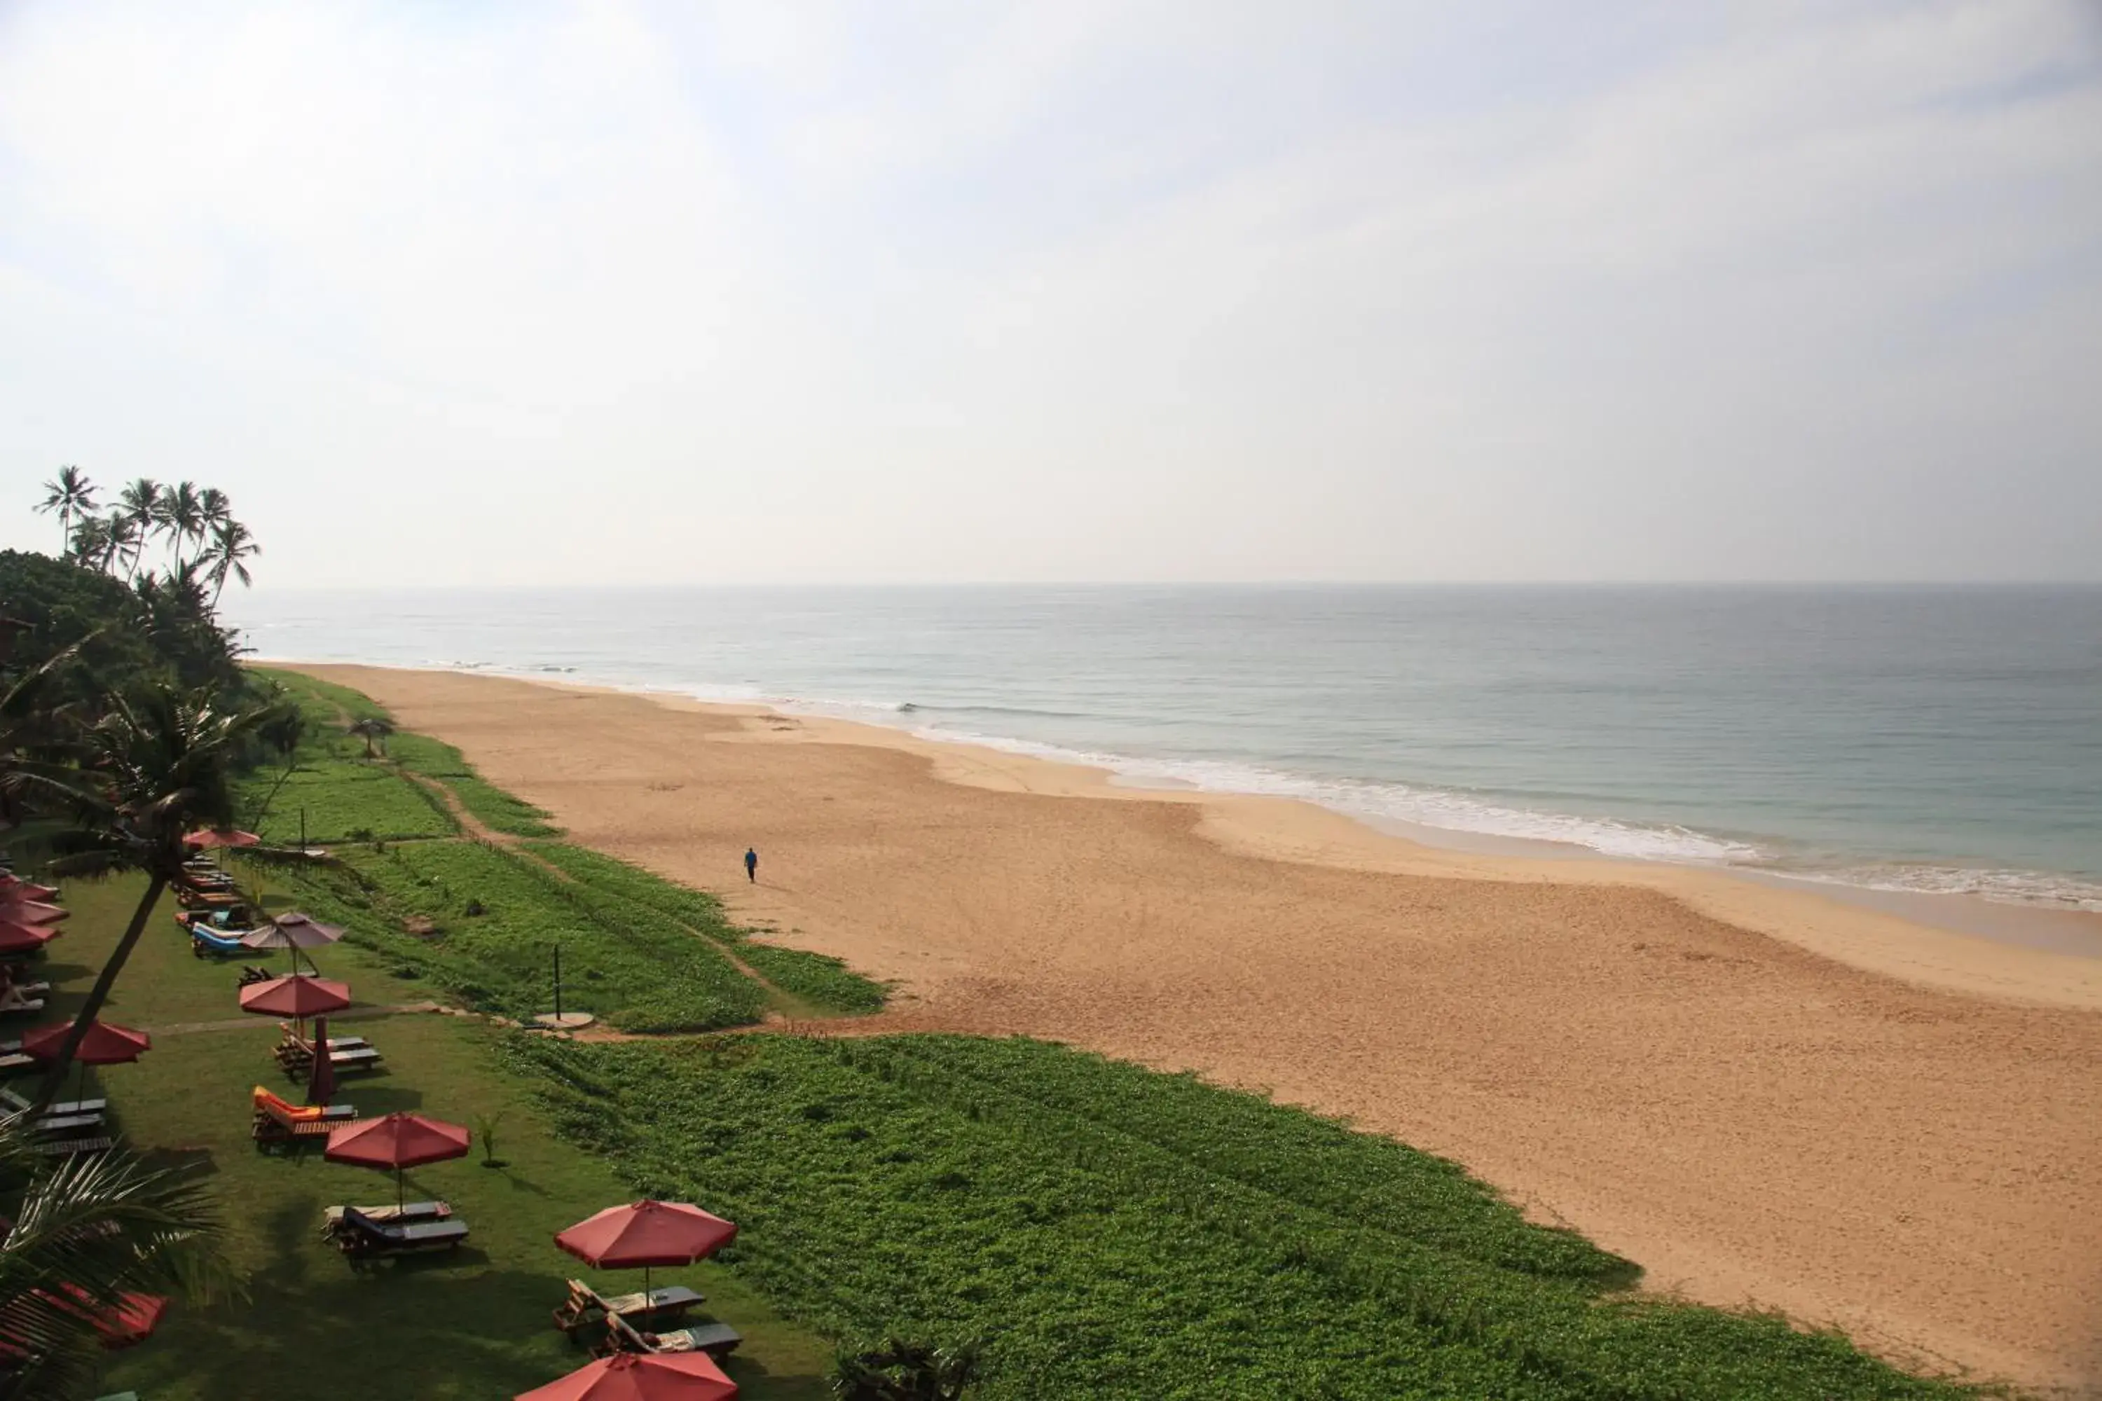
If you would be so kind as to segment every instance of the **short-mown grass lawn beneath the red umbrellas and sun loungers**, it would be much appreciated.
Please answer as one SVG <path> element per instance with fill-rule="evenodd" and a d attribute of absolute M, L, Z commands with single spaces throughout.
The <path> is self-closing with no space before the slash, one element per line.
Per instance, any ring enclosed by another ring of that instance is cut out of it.
<path fill-rule="evenodd" d="M 76 882 L 65 891 L 74 918 L 46 964 L 53 1010 L 78 1006 L 139 888 L 137 880 L 120 880 Z M 284 966 L 286 956 L 259 962 Z M 374 956 L 355 947 L 324 949 L 320 962 L 324 973 L 347 979 L 364 1004 L 427 996 L 416 983 L 389 979 Z M 210 1164 L 231 1220 L 229 1246 L 250 1271 L 252 1298 L 202 1311 L 177 1306 L 145 1346 L 111 1355 L 105 1388 L 135 1388 L 147 1401 L 277 1393 L 324 1401 L 509 1397 L 582 1365 L 586 1355 L 549 1325 L 563 1279 L 584 1277 L 618 1292 L 639 1288 L 639 1277 L 589 1271 L 549 1237 L 635 1193 L 603 1159 L 549 1132 L 528 1082 L 498 1065 L 502 1033 L 479 1021 L 431 1015 L 341 1023 L 385 1052 L 387 1073 L 347 1078 L 336 1099 L 370 1113 L 416 1109 L 471 1128 L 481 1113 L 502 1113 L 496 1149 L 507 1164 L 479 1166 L 477 1147 L 467 1159 L 410 1174 L 412 1195 L 452 1201 L 473 1227 L 473 1239 L 456 1256 L 353 1269 L 322 1241 L 322 1208 L 387 1201 L 393 1183 L 380 1172 L 326 1164 L 317 1149 L 280 1157 L 259 1153 L 248 1141 L 248 1088 L 290 1088 L 269 1054 L 273 1021 L 183 1029 L 240 1017 L 235 966 L 191 958 L 168 914 L 156 912 L 107 1010 L 109 1021 L 153 1029 L 153 1050 L 137 1065 L 90 1071 L 90 1082 L 99 1080 L 109 1094 L 132 1149 Z M 654 1281 L 692 1283 L 708 1296 L 715 1317 L 744 1334 L 744 1348 L 729 1363 L 744 1395 L 761 1401 L 830 1395 L 824 1384 L 830 1344 L 784 1323 L 729 1271 L 713 1264 L 656 1271 Z"/>

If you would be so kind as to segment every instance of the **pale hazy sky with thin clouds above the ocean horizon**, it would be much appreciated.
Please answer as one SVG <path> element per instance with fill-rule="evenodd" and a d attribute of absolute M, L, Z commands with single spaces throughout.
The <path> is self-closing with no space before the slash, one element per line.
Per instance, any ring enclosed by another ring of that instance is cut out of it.
<path fill-rule="evenodd" d="M 0 546 L 2102 580 L 2102 0 L 0 0 Z"/>

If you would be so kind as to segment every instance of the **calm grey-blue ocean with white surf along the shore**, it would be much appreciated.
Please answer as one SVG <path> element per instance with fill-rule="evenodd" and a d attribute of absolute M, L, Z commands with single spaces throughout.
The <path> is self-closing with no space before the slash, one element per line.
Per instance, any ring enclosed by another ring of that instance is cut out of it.
<path fill-rule="evenodd" d="M 2102 588 L 229 594 L 263 657 L 769 702 L 1375 823 L 2102 912 Z"/>

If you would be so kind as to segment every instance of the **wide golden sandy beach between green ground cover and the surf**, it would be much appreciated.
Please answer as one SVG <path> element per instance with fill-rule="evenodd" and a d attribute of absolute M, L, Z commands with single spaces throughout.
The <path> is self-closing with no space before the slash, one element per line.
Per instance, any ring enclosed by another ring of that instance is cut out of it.
<path fill-rule="evenodd" d="M 574 840 L 902 979 L 908 1025 L 1349 1115 L 1654 1290 L 1915 1365 L 2081 1395 L 2102 1378 L 2102 960 L 837 720 L 305 670 L 460 746 Z"/>

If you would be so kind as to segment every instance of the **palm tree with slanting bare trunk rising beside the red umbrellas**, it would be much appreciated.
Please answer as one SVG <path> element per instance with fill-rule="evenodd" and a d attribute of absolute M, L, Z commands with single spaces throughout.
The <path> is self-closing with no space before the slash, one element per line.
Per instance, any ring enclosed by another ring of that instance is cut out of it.
<path fill-rule="evenodd" d="M 156 685 L 137 702 L 109 697 L 105 714 L 82 741 L 84 786 L 78 796 L 80 823 L 61 832 L 55 844 L 65 855 L 53 863 L 63 876 L 109 876 L 145 872 L 145 895 L 130 924 L 103 964 L 88 1000 L 59 1044 L 38 1086 L 44 1107 L 65 1084 L 80 1038 L 109 1000 L 124 962 L 139 947 L 147 916 L 162 891 L 183 880 L 183 834 L 195 825 L 223 828 L 233 821 L 231 765 L 248 737 L 269 718 L 269 710 L 227 706 L 214 691 L 179 691 Z"/>

